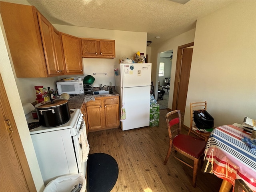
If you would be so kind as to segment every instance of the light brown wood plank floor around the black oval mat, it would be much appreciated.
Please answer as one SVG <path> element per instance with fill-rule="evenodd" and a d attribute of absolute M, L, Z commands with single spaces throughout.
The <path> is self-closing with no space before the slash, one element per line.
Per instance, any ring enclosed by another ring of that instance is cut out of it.
<path fill-rule="evenodd" d="M 118 180 L 111 192 L 218 192 L 222 180 L 198 171 L 197 186 L 192 187 L 192 169 L 170 155 L 165 115 L 160 110 L 159 127 L 122 131 L 121 128 L 90 132 L 90 154 L 106 153 L 118 163 Z M 183 129 L 186 134 L 187 131 Z M 174 152 L 172 152 L 174 153 Z"/>

